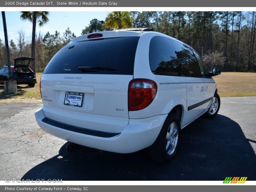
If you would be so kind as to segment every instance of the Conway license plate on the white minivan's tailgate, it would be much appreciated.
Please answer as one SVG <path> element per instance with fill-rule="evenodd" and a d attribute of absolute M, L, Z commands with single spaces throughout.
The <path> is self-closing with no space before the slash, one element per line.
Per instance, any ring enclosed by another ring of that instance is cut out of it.
<path fill-rule="evenodd" d="M 66 92 L 64 105 L 82 107 L 84 93 Z"/>

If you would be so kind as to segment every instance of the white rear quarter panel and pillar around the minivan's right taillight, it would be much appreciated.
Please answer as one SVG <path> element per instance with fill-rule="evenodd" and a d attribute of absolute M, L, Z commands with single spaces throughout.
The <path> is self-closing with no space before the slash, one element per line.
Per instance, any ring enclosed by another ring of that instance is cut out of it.
<path fill-rule="evenodd" d="M 137 46 L 133 78 L 144 78 L 155 81 L 157 84 L 157 94 L 147 108 L 139 111 L 130 111 L 129 118 L 131 119 L 168 114 L 176 105 L 181 105 L 183 109 L 186 108 L 187 92 L 184 78 L 182 76 L 154 75 L 151 72 L 148 54 L 150 40 L 154 36 L 169 38 L 166 35 L 156 34 L 155 32 L 143 33 Z"/>

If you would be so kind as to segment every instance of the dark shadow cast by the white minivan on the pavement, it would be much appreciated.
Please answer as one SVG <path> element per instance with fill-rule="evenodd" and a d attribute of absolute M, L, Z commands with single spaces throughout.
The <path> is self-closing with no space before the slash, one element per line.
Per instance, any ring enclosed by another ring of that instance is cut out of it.
<path fill-rule="evenodd" d="M 182 130 L 179 150 L 169 164 L 150 160 L 147 150 L 116 154 L 81 147 L 38 164 L 22 179 L 62 180 L 256 180 L 256 156 L 241 127 L 226 116 L 199 118 Z M 254 141 L 255 142 L 255 141 Z M 60 158 L 62 156 L 62 158 Z"/>

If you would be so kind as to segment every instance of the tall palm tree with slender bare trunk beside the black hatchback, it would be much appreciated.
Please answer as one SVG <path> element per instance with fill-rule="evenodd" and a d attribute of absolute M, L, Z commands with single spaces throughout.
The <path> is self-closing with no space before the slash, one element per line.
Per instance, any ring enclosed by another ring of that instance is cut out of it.
<path fill-rule="evenodd" d="M 49 21 L 48 11 L 21 11 L 20 19 L 29 20 L 33 23 L 32 29 L 32 45 L 31 45 L 31 57 L 35 59 L 35 41 L 36 41 L 36 21 L 39 27 L 42 27 Z M 32 69 L 36 75 L 35 60 L 32 60 Z"/>

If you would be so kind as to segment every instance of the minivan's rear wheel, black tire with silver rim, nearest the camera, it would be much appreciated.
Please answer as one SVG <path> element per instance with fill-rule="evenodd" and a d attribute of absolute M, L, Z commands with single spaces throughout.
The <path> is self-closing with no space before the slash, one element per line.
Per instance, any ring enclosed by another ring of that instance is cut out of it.
<path fill-rule="evenodd" d="M 160 163 L 168 163 L 175 156 L 180 141 L 180 119 L 170 113 L 152 146 L 148 148 L 151 159 Z"/>

